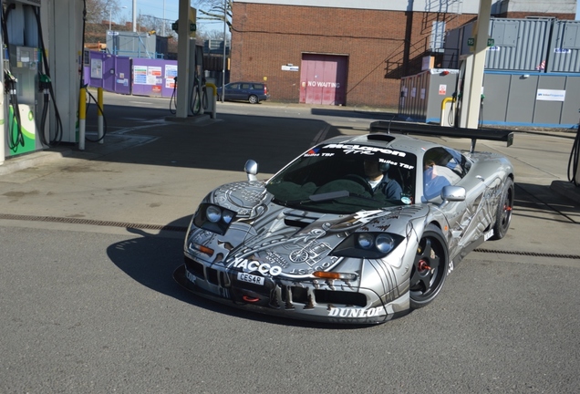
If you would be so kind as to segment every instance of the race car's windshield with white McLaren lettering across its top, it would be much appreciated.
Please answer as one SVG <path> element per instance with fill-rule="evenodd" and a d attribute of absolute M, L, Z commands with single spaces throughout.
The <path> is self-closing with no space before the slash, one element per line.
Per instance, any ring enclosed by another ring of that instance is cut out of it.
<path fill-rule="evenodd" d="M 417 158 L 376 146 L 326 143 L 270 179 L 274 202 L 322 213 L 356 213 L 413 203 Z"/>

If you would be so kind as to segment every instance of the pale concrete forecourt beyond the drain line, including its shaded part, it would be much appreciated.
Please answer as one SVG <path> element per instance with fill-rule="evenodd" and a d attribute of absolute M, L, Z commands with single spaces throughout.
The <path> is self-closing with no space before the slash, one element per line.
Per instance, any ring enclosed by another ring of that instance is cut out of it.
<path fill-rule="evenodd" d="M 226 102 L 218 103 L 216 119 L 176 119 L 168 101 L 106 94 L 104 143 L 87 141 L 82 151 L 61 144 L 6 159 L 0 166 L 0 218 L 115 222 L 120 229 L 137 224 L 153 230 L 186 226 L 212 188 L 245 179 L 246 160 L 257 161 L 259 176 L 265 179 L 319 140 L 363 134 L 370 121 L 394 115 L 377 109 Z M 91 114 L 88 138 L 96 139 L 97 121 Z M 515 168 L 512 229 L 506 241 L 486 247 L 580 255 L 580 188 L 567 181 L 575 131 L 514 132 L 511 147 L 477 143 L 478 150 L 506 155 Z M 470 146 L 466 139 L 442 140 L 459 149 Z"/>

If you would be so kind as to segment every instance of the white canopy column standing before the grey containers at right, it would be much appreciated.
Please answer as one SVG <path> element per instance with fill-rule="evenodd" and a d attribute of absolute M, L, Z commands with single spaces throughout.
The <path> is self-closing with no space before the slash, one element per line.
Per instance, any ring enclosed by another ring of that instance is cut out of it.
<path fill-rule="evenodd" d="M 492 0 L 480 0 L 477 29 L 474 32 L 476 35 L 474 45 L 475 50 L 471 59 L 468 59 L 468 64 L 465 67 L 466 86 L 463 90 L 464 99 L 462 102 L 463 110 L 461 110 L 461 118 L 463 118 L 463 116 L 466 118 L 465 121 L 461 119 L 460 124 L 465 123 L 468 129 L 477 129 L 480 119 L 483 67 L 485 65 L 485 55 L 487 52 L 487 39 L 489 38 L 491 14 Z M 467 102 L 465 99 L 467 99 Z"/>

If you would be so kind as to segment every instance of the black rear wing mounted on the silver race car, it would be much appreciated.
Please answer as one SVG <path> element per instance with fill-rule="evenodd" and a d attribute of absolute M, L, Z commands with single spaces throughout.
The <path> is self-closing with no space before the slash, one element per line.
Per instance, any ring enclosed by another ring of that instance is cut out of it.
<path fill-rule="evenodd" d="M 471 139 L 471 152 L 475 151 L 477 140 L 497 140 L 513 144 L 513 131 L 502 129 L 452 128 L 426 123 L 378 120 L 370 123 L 370 132 L 415 134 L 431 137 L 455 137 Z"/>

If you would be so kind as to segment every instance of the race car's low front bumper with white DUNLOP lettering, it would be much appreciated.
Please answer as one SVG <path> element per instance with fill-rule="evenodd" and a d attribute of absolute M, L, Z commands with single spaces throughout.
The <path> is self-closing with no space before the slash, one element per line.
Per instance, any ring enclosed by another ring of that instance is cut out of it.
<path fill-rule="evenodd" d="M 185 257 L 173 274 L 185 289 L 219 303 L 266 315 L 333 324 L 378 324 L 408 313 L 409 293 L 385 305 L 368 289 L 325 290 L 266 277 L 264 285 L 237 280 L 237 272 Z"/>

